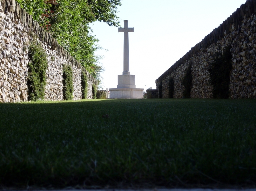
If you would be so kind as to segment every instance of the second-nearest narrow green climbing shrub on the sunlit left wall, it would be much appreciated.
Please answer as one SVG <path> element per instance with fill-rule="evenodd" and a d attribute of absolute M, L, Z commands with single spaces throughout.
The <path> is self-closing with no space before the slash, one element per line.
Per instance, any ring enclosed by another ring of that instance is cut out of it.
<path fill-rule="evenodd" d="M 70 65 L 63 65 L 63 98 L 73 100 L 73 71 Z"/>

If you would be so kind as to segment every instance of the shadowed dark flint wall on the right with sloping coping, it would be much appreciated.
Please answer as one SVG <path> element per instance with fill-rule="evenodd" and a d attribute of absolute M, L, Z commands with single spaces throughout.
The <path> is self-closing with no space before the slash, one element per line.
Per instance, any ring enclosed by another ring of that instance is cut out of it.
<path fill-rule="evenodd" d="M 168 98 L 170 78 L 174 78 L 174 98 L 183 97 L 182 79 L 190 64 L 191 98 L 212 98 L 208 68 L 213 63 L 213 54 L 223 52 L 229 44 L 233 63 L 229 98 L 256 98 L 256 0 L 247 0 L 156 80 L 157 87 L 162 82 L 162 98 Z"/>

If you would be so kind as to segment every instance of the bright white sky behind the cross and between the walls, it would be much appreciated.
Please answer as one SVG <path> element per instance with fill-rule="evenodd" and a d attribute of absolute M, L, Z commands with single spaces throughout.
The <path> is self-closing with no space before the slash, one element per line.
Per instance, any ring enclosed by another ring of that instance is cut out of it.
<path fill-rule="evenodd" d="M 117 16 L 128 20 L 129 69 L 136 88 L 156 88 L 155 80 L 202 41 L 246 0 L 122 0 Z M 104 56 L 103 89 L 117 87 L 123 72 L 123 32 L 103 22 L 90 25 Z"/>

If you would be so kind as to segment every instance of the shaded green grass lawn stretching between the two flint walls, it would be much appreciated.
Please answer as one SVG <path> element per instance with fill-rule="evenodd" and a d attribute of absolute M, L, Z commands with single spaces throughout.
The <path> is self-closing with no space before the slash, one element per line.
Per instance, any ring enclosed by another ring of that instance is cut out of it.
<path fill-rule="evenodd" d="M 2 188 L 211 184 L 256 185 L 256 100 L 0 104 Z"/>

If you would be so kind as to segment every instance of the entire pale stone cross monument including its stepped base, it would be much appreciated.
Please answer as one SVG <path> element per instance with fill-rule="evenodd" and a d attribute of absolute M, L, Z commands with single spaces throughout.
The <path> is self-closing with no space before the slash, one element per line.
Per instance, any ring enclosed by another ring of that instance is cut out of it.
<path fill-rule="evenodd" d="M 109 88 L 110 99 L 134 99 L 143 98 L 143 88 L 136 88 L 135 75 L 129 71 L 129 36 L 128 32 L 134 32 L 134 28 L 128 28 L 128 21 L 124 20 L 124 28 L 118 28 L 123 32 L 123 74 L 118 75 L 117 88 Z"/>

